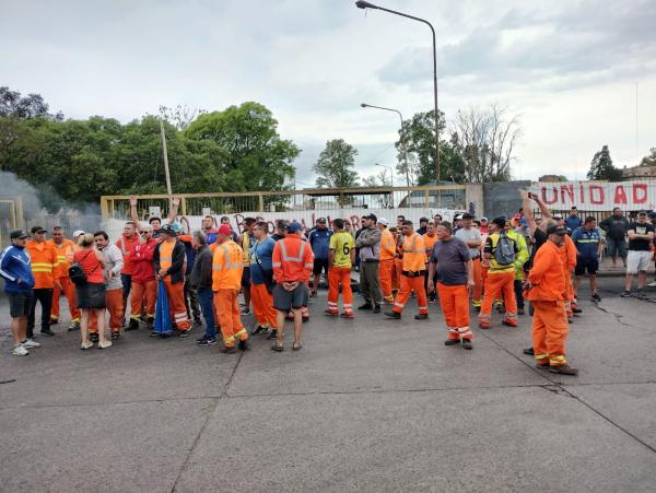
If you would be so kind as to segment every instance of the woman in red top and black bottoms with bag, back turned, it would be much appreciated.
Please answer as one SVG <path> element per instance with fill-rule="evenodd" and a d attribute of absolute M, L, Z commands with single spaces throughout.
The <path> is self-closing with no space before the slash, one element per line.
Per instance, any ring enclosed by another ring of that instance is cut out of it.
<path fill-rule="evenodd" d="M 103 253 L 94 248 L 93 235 L 86 233 L 78 239 L 80 249 L 73 254 L 73 265 L 69 272 L 75 284 L 78 307 L 82 314 L 80 331 L 82 343 L 80 349 L 93 348 L 89 340 L 89 322 L 95 317 L 98 328 L 98 349 L 109 348 L 112 341 L 105 339 L 105 261 Z"/>

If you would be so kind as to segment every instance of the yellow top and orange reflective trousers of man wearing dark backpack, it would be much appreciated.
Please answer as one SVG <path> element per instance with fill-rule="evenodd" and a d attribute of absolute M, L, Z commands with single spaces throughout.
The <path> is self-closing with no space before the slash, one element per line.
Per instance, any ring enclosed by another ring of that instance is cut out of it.
<path fill-rule="evenodd" d="M 492 317 L 492 304 L 494 298 L 503 295 L 505 300 L 505 316 L 504 324 L 516 327 L 517 326 L 517 300 L 515 298 L 515 265 L 501 266 L 494 258 L 494 251 L 499 243 L 501 235 L 499 233 L 492 233 L 487 242 L 484 251 L 491 254 L 490 267 L 488 268 L 488 280 L 485 281 L 485 295 L 483 296 L 483 303 L 481 305 L 481 313 L 479 314 L 479 327 L 481 329 L 489 329 L 491 317 Z M 515 255 L 517 255 L 517 244 L 511 238 L 515 245 Z"/>

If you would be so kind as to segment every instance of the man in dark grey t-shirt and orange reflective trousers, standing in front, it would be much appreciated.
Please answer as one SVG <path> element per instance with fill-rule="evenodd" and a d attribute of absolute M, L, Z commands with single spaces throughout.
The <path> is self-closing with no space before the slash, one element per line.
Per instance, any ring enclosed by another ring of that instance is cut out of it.
<path fill-rule="evenodd" d="M 469 287 L 473 287 L 473 262 L 471 248 L 465 240 L 453 235 L 449 222 L 437 223 L 437 237 L 431 251 L 429 265 L 429 291 L 435 291 L 435 274 L 437 274 L 437 292 L 440 305 L 448 329 L 445 345 L 456 345 L 472 349 L 473 333 L 469 326 Z"/>

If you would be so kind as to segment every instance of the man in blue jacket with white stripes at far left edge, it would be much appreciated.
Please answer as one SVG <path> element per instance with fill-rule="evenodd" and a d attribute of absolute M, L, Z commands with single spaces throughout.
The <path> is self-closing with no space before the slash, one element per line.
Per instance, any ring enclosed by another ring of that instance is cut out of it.
<path fill-rule="evenodd" d="M 10 233 L 11 245 L 0 256 L 0 275 L 4 279 L 4 293 L 9 298 L 11 315 L 11 334 L 14 347 L 14 356 L 26 356 L 27 349 L 38 348 L 40 344 L 27 339 L 27 316 L 34 296 L 34 274 L 32 260 L 25 250 L 27 235 L 17 230 Z"/>

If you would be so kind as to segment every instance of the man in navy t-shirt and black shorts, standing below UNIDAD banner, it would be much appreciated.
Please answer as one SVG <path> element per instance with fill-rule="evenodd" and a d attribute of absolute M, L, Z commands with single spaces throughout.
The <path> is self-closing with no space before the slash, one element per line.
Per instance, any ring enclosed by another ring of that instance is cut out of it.
<path fill-rule="evenodd" d="M 597 220 L 588 215 L 583 226 L 572 233 L 572 240 L 576 246 L 576 267 L 574 268 L 574 297 L 578 292 L 581 280 L 587 272 L 590 280 L 590 296 L 593 302 L 600 302 L 597 294 L 597 270 L 599 269 L 599 251 L 601 249 L 601 234 L 597 227 Z"/>

